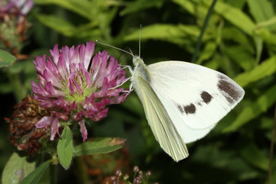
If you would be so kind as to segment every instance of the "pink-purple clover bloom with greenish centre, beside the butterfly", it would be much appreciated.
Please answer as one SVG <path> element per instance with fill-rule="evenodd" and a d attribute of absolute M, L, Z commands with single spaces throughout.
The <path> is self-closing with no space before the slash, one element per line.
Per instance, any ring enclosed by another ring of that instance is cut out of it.
<path fill-rule="evenodd" d="M 37 127 L 50 127 L 55 139 L 62 122 L 79 123 L 83 141 L 87 139 L 85 121 L 99 121 L 108 113 L 107 105 L 122 103 L 128 92 L 119 88 L 126 81 L 126 71 L 108 52 L 97 52 L 95 43 L 61 49 L 55 45 L 51 57 L 34 61 L 39 82 L 32 81 L 34 98 L 41 108 L 51 112 Z"/>

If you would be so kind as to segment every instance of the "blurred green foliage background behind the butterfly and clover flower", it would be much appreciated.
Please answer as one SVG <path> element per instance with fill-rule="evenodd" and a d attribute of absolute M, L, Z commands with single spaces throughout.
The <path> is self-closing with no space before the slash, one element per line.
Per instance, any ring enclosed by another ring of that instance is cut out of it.
<path fill-rule="evenodd" d="M 37 54 L 49 54 L 48 50 L 56 43 L 61 47 L 96 39 L 138 54 L 142 24 L 141 57 L 146 64 L 191 61 L 212 1 L 34 0 L 34 3 L 28 14 L 31 23 L 28 39 L 21 50 L 29 59 L 12 65 L 8 74 L 6 69 L 0 70 L 0 171 L 15 150 L 3 117 L 10 116 L 12 106 L 30 93 L 30 80 L 36 80 L 32 60 Z M 96 50 L 108 50 L 122 65 L 132 65 L 128 54 L 99 44 Z M 124 150 L 128 164 L 121 165 L 121 169 L 127 172 L 126 167 L 138 165 L 142 170 L 151 170 L 150 181 L 266 183 L 276 101 L 276 1 L 217 1 L 195 63 L 230 76 L 246 94 L 210 134 L 188 144 L 187 159 L 175 163 L 161 150 L 135 92 L 125 103 L 111 105 L 105 119 L 90 123 L 88 136 L 127 139 Z M 19 76 L 17 82 L 10 82 L 12 74 Z M 14 83 L 19 83 L 20 91 Z M 273 166 L 270 180 L 276 183 L 276 158 Z M 74 170 L 61 170 L 59 183 L 81 183 L 75 175 L 66 178 L 70 172 Z"/>

